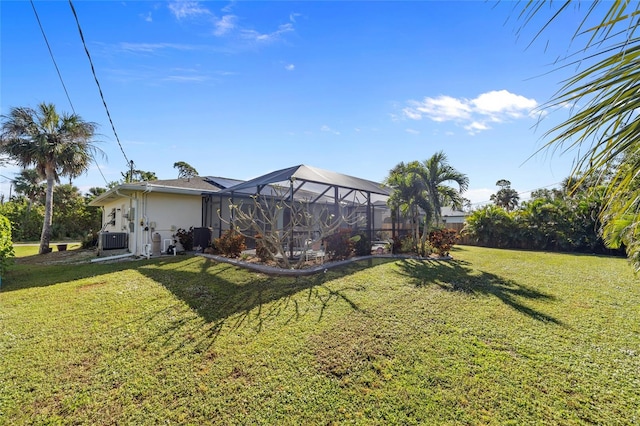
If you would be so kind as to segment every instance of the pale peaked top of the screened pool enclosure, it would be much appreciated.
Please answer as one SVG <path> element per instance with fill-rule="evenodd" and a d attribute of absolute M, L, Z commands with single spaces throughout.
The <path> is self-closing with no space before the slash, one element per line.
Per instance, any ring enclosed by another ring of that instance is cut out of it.
<path fill-rule="evenodd" d="M 328 189 L 335 187 L 338 188 L 341 199 L 346 198 L 354 192 L 364 192 L 374 195 L 371 197 L 372 202 L 388 197 L 392 191 L 391 188 L 378 182 L 329 170 L 322 170 L 316 167 L 298 165 L 267 173 L 266 175 L 221 190 L 219 193 L 256 194 L 262 193 L 263 189 L 270 185 L 280 186 L 282 188 L 293 186 L 296 192 L 304 187 L 306 194 L 311 193 L 316 195 L 326 194 Z"/>

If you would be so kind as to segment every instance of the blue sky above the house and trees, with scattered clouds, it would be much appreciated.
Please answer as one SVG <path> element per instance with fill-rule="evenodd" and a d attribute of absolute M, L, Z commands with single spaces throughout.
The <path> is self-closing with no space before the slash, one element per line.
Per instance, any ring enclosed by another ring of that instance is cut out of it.
<path fill-rule="evenodd" d="M 127 159 L 160 179 L 185 161 L 249 179 L 307 164 L 382 181 L 444 151 L 488 201 L 569 175 L 575 153 L 534 155 L 568 110 L 541 112 L 574 69 L 556 70 L 568 14 L 533 44 L 513 3 L 80 1 L 73 4 L 124 155 L 67 1 L 3 1 L 0 110 L 54 103 L 99 124 L 106 154 L 81 190 L 122 178 Z M 540 120 L 542 117 L 542 120 Z M 533 155 L 533 157 L 532 157 Z M 16 167 L 0 170 L 8 194 Z"/>

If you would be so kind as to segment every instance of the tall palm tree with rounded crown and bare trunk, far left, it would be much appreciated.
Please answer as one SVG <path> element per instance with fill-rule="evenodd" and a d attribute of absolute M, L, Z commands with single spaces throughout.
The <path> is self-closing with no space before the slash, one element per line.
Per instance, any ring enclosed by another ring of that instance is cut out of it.
<path fill-rule="evenodd" d="M 0 152 L 23 168 L 33 166 L 46 180 L 40 254 L 51 251 L 53 188 L 60 176 L 78 177 L 87 171 L 98 151 L 92 141 L 96 127 L 77 114 L 60 115 L 46 103 L 36 109 L 14 107 L 2 116 Z"/>

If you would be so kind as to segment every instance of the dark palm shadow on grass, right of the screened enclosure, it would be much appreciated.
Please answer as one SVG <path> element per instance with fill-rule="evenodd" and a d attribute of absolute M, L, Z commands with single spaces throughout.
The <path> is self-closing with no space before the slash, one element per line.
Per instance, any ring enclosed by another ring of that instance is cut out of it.
<path fill-rule="evenodd" d="M 401 273 L 418 287 L 435 285 L 446 291 L 494 296 L 535 320 L 563 325 L 559 319 L 523 303 L 523 300 L 553 301 L 555 300 L 553 295 L 489 272 L 474 270 L 469 265 L 468 262 L 460 260 L 407 259 L 399 262 Z"/>

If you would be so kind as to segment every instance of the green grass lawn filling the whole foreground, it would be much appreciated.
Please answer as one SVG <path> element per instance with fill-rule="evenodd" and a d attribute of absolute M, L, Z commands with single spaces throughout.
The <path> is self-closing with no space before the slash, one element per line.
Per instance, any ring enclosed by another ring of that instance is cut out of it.
<path fill-rule="evenodd" d="M 460 247 L 272 278 L 191 256 L 17 264 L 0 424 L 638 424 L 625 259 Z"/>

